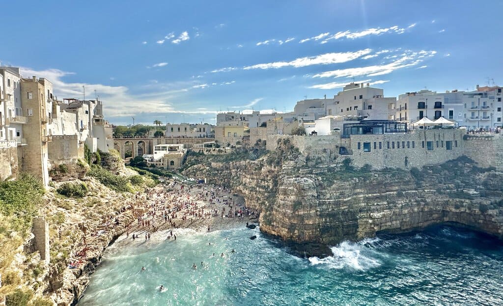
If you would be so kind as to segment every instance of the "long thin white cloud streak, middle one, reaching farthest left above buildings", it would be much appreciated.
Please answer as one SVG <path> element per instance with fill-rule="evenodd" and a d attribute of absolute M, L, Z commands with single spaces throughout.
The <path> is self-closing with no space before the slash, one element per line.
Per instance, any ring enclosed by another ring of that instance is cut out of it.
<path fill-rule="evenodd" d="M 243 67 L 245 70 L 249 69 L 270 69 L 270 68 L 281 68 L 286 66 L 292 67 L 305 67 L 310 65 L 326 65 L 334 63 L 344 63 L 354 59 L 357 59 L 363 55 L 369 54 L 372 49 L 358 50 L 355 52 L 337 52 L 337 53 L 325 53 L 316 56 L 300 57 L 292 61 L 279 61 L 271 63 L 256 64 L 251 66 Z"/>

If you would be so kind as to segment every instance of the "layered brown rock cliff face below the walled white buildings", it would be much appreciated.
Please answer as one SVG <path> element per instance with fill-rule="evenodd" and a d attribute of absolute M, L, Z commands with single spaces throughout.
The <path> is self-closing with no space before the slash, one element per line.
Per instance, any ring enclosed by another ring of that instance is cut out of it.
<path fill-rule="evenodd" d="M 288 141 L 257 161 L 206 162 L 186 171 L 213 177 L 261 211 L 261 231 L 323 255 L 343 240 L 455 223 L 503 238 L 503 173 L 461 157 L 411 171 L 355 170 L 330 155 L 303 156 Z M 311 244 L 311 245 L 310 245 Z M 306 246 L 311 246 L 307 247 Z"/>

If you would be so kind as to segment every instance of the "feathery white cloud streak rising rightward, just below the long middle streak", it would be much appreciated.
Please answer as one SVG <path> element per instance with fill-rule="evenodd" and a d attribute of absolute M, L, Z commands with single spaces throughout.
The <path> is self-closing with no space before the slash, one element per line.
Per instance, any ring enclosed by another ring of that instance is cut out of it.
<path fill-rule="evenodd" d="M 345 68 L 345 69 L 337 69 L 332 71 L 326 71 L 318 74 L 314 74 L 313 78 L 341 78 L 341 77 L 360 77 L 362 75 L 367 75 L 368 77 L 373 77 L 375 75 L 383 75 L 393 72 L 394 70 L 415 66 L 418 63 L 423 61 L 424 56 L 434 56 L 437 51 L 419 51 L 412 52 L 407 50 L 403 56 L 395 59 L 394 61 L 381 64 L 381 65 L 372 65 L 365 67 L 354 67 L 354 68 Z"/>

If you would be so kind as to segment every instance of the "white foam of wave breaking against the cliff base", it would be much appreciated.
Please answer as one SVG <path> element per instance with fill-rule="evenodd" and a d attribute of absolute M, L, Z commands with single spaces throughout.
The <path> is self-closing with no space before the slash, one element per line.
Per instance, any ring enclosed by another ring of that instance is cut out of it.
<path fill-rule="evenodd" d="M 329 269 L 348 269 L 356 271 L 367 271 L 381 265 L 375 258 L 377 252 L 366 246 L 374 244 L 376 240 L 363 240 L 358 243 L 342 242 L 338 246 L 332 247 L 333 256 L 325 258 L 310 257 L 311 265 L 322 265 Z"/>

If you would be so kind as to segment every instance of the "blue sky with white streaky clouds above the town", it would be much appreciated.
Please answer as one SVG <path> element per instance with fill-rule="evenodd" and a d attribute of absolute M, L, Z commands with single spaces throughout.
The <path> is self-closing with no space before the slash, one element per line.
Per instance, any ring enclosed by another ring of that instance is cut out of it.
<path fill-rule="evenodd" d="M 30 4 L 31 3 L 31 4 Z M 350 82 L 386 97 L 503 85 L 503 1 L 8 1 L 2 65 L 114 124 L 291 111 Z M 96 93 L 95 93 L 96 91 Z"/>

